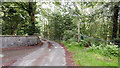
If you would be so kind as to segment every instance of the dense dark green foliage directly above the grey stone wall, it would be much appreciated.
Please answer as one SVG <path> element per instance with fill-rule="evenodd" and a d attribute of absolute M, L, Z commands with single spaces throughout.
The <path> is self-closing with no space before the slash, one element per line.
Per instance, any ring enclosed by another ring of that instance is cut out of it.
<path fill-rule="evenodd" d="M 35 22 L 31 20 L 32 11 L 36 10 L 35 3 L 33 4 L 34 10 L 30 8 L 29 3 L 24 2 L 4 2 L 2 3 L 3 22 L 2 34 L 3 35 L 33 35 L 39 32 Z"/>

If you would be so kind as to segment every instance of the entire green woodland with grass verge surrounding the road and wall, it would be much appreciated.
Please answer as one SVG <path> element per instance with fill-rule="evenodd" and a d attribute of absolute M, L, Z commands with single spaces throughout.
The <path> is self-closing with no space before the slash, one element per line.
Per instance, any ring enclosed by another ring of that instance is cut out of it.
<path fill-rule="evenodd" d="M 118 66 L 120 2 L 3 2 L 2 35 L 62 42 L 82 66 Z"/>

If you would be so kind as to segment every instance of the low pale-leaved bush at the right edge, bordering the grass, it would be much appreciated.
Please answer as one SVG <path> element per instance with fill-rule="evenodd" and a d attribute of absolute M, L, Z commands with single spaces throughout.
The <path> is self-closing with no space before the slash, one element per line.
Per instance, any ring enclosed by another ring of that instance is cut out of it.
<path fill-rule="evenodd" d="M 90 48 L 88 48 L 89 51 L 99 51 L 99 53 L 105 55 L 105 56 L 118 56 L 118 46 L 114 44 L 105 45 L 100 44 L 99 46 L 92 45 Z"/>

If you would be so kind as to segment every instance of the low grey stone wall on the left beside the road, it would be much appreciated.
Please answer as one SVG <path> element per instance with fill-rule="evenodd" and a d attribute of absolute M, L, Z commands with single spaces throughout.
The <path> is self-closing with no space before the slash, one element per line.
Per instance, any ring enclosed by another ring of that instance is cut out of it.
<path fill-rule="evenodd" d="M 0 36 L 0 48 L 36 45 L 38 39 L 37 36 Z"/>

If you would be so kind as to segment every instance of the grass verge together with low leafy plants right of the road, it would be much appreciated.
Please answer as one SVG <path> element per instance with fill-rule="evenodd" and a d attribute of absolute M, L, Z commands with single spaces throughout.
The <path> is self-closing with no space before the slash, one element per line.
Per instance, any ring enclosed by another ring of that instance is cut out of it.
<path fill-rule="evenodd" d="M 85 41 L 80 43 L 72 40 L 63 41 L 70 52 L 74 52 L 74 60 L 80 66 L 118 66 L 118 49 L 116 45 L 100 44 L 84 47 Z M 83 43 L 83 44 L 82 44 Z"/>

